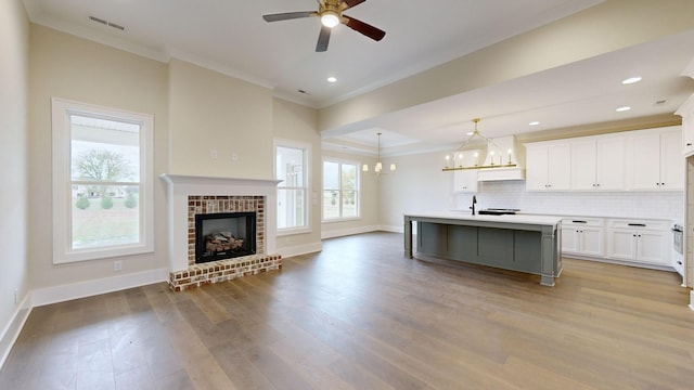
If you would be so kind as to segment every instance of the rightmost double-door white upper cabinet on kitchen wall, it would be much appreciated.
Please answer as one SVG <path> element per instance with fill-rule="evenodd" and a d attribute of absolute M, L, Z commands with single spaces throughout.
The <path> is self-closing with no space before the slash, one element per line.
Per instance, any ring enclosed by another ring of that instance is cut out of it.
<path fill-rule="evenodd" d="M 684 190 L 680 127 L 630 135 L 630 190 Z"/>

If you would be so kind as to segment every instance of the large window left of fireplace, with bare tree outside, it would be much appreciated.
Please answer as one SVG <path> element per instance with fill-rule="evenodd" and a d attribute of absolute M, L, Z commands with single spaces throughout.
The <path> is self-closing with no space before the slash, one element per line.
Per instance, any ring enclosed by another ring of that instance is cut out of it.
<path fill-rule="evenodd" d="M 153 251 L 153 117 L 51 103 L 53 262 Z"/>

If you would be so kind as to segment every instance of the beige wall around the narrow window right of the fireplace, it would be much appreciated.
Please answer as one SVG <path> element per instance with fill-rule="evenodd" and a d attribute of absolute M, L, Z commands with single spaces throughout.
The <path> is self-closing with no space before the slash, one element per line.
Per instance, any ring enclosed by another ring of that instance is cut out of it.
<path fill-rule="evenodd" d="M 318 133 L 318 112 L 284 100 L 274 99 L 272 107 L 272 128 L 277 140 L 300 142 L 311 145 L 309 166 L 310 233 L 282 235 L 278 237 L 278 251 L 303 253 L 311 248 L 320 248 L 321 240 L 321 138 Z M 312 204 L 312 199 L 317 199 Z"/>

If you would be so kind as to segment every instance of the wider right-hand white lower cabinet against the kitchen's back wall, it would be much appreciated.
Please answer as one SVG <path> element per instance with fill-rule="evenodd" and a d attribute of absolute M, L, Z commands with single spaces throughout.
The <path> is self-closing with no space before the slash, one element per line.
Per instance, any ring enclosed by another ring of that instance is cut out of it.
<path fill-rule="evenodd" d="M 670 265 L 668 221 L 611 220 L 607 258 L 652 265 Z"/>

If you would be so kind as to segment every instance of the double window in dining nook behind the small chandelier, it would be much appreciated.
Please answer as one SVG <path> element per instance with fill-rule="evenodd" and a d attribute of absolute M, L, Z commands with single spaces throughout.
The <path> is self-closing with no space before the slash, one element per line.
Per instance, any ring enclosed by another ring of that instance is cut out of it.
<path fill-rule="evenodd" d="M 359 218 L 359 164 L 323 160 L 323 221 Z"/>

